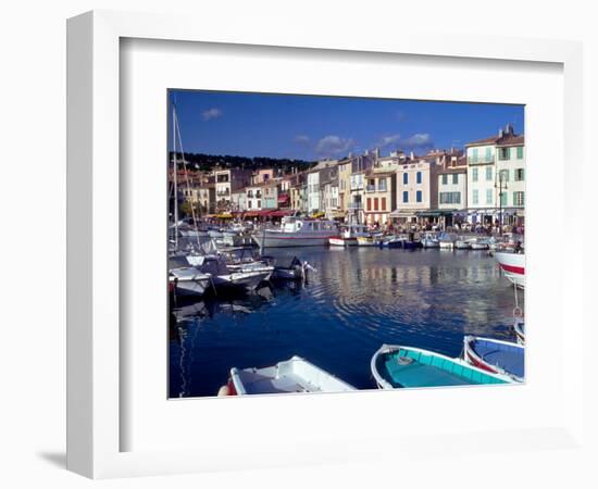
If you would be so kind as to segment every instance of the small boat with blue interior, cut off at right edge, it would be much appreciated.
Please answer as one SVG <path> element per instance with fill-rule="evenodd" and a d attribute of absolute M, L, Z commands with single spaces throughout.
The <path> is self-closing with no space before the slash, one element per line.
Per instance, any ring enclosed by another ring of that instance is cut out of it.
<path fill-rule="evenodd" d="M 506 375 L 514 381 L 524 379 L 525 348 L 510 341 L 466 335 L 463 360 L 491 374 Z"/>

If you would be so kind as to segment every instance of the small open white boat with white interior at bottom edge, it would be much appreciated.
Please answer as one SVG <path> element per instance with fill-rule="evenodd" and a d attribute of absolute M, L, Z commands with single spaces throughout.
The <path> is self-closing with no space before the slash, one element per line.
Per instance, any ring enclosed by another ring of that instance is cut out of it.
<path fill-rule="evenodd" d="M 233 367 L 226 386 L 228 396 L 351 390 L 357 389 L 300 356 L 263 368 Z"/>

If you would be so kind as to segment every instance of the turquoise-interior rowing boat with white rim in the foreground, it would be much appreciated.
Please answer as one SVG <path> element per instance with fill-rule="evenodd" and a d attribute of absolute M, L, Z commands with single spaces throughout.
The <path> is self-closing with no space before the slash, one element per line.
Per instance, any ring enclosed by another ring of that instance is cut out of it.
<path fill-rule="evenodd" d="M 510 377 L 461 359 L 398 344 L 383 344 L 372 356 L 370 368 L 379 389 L 512 383 Z"/>

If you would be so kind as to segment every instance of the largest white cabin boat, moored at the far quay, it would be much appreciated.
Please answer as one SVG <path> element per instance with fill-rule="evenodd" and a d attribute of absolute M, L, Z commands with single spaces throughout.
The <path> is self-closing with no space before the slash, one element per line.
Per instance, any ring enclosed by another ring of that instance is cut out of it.
<path fill-rule="evenodd" d="M 253 239 L 260 248 L 316 247 L 328 244 L 328 239 L 335 236 L 338 226 L 334 221 L 285 216 L 279 228 L 264 228 Z"/>

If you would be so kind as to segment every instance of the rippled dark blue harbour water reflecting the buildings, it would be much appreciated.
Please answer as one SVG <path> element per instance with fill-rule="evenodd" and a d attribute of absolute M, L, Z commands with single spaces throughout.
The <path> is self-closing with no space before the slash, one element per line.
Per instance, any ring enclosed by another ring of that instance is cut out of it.
<path fill-rule="evenodd" d="M 514 341 L 514 292 L 484 251 L 377 248 L 270 249 L 317 273 L 304 285 L 201 301 L 174 311 L 170 397 L 215 396 L 233 366 L 302 356 L 359 389 L 375 388 L 382 343 L 458 356 L 463 335 Z M 523 292 L 519 291 L 520 305 Z"/>

